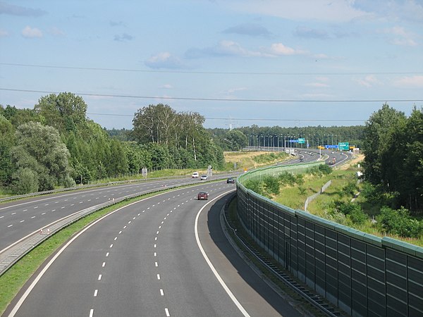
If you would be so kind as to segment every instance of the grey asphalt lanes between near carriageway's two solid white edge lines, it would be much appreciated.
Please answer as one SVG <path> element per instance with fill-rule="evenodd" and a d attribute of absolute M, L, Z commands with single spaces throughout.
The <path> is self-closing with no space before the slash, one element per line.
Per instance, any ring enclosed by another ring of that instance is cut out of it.
<path fill-rule="evenodd" d="M 207 204 L 195 199 L 197 192 L 206 190 L 212 199 L 233 188 L 217 182 L 178 189 L 107 216 L 58 256 L 16 316 L 243 316 L 194 234 L 195 216 Z M 266 300 L 257 302 L 267 296 L 251 295 L 259 288 L 247 287 L 243 278 L 232 284 L 235 296 L 243 290 L 246 303 L 274 309 Z"/>

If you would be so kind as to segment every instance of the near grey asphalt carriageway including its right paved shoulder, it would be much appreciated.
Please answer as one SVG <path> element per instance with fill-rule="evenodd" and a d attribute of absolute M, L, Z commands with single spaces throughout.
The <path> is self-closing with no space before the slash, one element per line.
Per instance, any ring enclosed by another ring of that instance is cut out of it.
<path fill-rule="evenodd" d="M 301 316 L 223 235 L 234 189 L 203 183 L 109 213 L 45 263 L 4 316 Z"/>

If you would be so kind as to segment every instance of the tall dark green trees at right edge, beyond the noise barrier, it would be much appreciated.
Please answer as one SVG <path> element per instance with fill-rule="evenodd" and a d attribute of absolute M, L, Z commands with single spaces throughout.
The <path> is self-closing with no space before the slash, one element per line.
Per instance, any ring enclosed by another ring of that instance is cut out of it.
<path fill-rule="evenodd" d="M 396 197 L 395 208 L 423 213 L 423 110 L 409 118 L 384 104 L 364 130 L 364 176 Z"/>

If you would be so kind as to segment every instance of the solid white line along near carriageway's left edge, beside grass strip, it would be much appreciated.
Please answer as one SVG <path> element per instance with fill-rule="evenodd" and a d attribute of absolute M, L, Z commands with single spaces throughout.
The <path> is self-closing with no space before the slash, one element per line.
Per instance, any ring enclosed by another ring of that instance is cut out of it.
<path fill-rule="evenodd" d="M 163 193 L 166 194 L 166 193 Z M 152 196 L 152 197 L 157 197 L 161 194 L 158 194 L 156 196 Z M 25 299 L 28 297 L 28 295 L 30 294 L 30 292 L 34 289 L 35 285 L 37 285 L 37 282 L 39 282 L 39 280 L 42 278 L 42 275 L 44 275 L 44 273 L 47 272 L 47 270 L 49 269 L 49 267 L 54 263 L 54 261 L 56 261 L 56 259 L 61 255 L 61 253 L 63 251 L 65 251 L 65 249 L 73 242 L 75 241 L 80 235 L 82 235 L 82 233 L 84 233 L 85 231 L 87 231 L 88 229 L 90 229 L 93 225 L 99 223 L 99 221 L 103 220 L 104 218 L 116 213 L 117 211 L 120 211 L 121 209 L 124 209 L 128 206 L 132 206 L 133 204 L 137 204 L 141 201 L 145 201 L 147 199 L 150 199 L 152 197 L 147 197 L 145 199 L 139 200 L 139 201 L 134 201 L 131 204 L 128 204 L 126 206 L 123 206 L 119 209 L 116 209 L 115 211 L 111 211 L 111 213 L 107 213 L 106 215 L 102 216 L 102 218 L 99 218 L 97 220 L 95 220 L 93 223 L 91 223 L 90 225 L 87 225 L 87 227 L 85 227 L 84 229 L 82 229 L 80 232 L 78 232 L 71 240 L 68 241 L 68 243 L 66 243 L 49 261 L 49 263 L 47 263 L 46 266 L 44 266 L 44 268 L 42 269 L 41 272 L 39 272 L 39 274 L 37 275 L 37 277 L 35 278 L 35 280 L 32 281 L 30 287 L 27 288 L 27 290 L 23 293 L 22 297 L 20 297 L 20 299 L 18 300 L 18 303 L 16 303 L 16 305 L 13 307 L 11 313 L 9 313 L 8 317 L 13 317 L 16 315 L 16 313 L 18 312 L 18 309 L 20 308 L 20 306 L 22 306 L 23 302 L 25 302 Z M 94 312 L 94 309 L 92 309 L 92 311 Z"/>

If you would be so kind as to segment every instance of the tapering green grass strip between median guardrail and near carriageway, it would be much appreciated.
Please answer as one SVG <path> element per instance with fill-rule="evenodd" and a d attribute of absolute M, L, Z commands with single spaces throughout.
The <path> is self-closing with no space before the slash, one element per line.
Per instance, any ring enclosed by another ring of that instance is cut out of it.
<path fill-rule="evenodd" d="M 39 244 L 28 254 L 23 256 L 18 262 L 16 262 L 11 268 L 8 269 L 3 275 L 0 276 L 0 316 L 6 310 L 8 304 L 11 303 L 19 290 L 25 285 L 25 282 L 31 278 L 31 276 L 37 271 L 39 266 L 46 261 L 49 256 L 61 247 L 66 241 L 68 241 L 73 235 L 82 230 L 86 225 L 92 223 L 92 221 L 101 218 L 122 206 L 128 205 L 133 201 L 145 199 L 147 197 L 154 196 L 154 194 L 146 194 L 136 199 L 128 201 L 122 201 L 121 203 L 115 204 L 114 206 L 106 207 L 100 211 L 92 213 L 77 222 L 68 225 L 56 234 L 51 235 L 49 239 Z"/>

